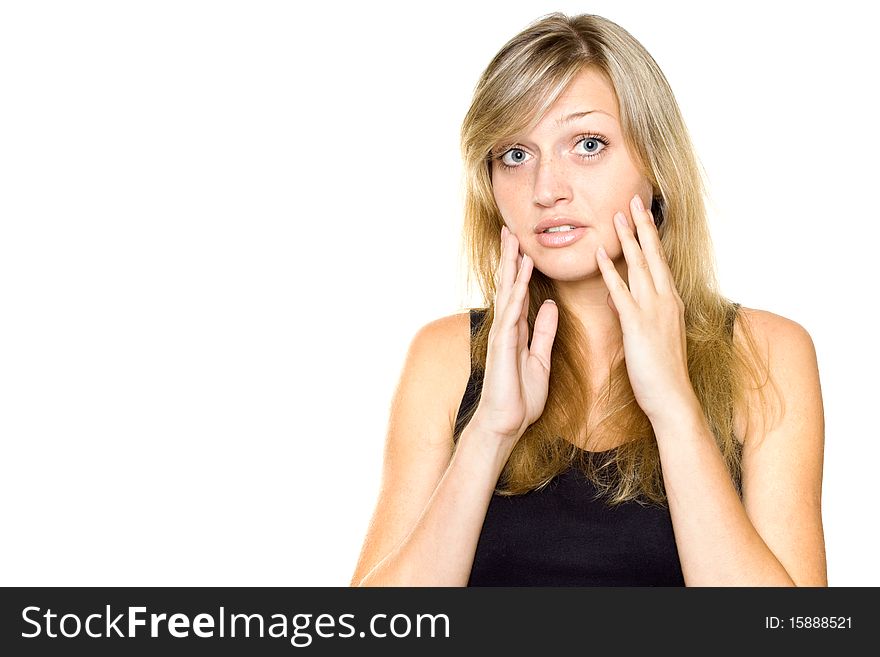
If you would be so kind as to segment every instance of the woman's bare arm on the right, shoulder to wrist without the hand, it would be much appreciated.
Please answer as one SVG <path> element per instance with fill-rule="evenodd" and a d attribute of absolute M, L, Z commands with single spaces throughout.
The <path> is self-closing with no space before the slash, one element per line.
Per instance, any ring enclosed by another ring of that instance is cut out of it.
<path fill-rule="evenodd" d="M 657 441 L 688 586 L 827 586 L 822 531 L 824 416 L 816 352 L 798 324 L 750 313 L 769 344 L 785 413 L 755 435 L 749 405 L 740 502 L 699 406 L 658 425 Z"/>

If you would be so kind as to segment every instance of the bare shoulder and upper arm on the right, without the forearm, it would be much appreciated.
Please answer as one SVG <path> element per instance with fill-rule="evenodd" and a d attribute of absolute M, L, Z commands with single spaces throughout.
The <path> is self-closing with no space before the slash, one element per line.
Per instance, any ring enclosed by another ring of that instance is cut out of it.
<path fill-rule="evenodd" d="M 743 505 L 797 585 L 826 586 L 822 530 L 825 419 L 812 337 L 799 323 L 741 308 L 772 379 L 766 401 L 749 391 Z M 765 415 L 770 420 L 765 421 Z"/>

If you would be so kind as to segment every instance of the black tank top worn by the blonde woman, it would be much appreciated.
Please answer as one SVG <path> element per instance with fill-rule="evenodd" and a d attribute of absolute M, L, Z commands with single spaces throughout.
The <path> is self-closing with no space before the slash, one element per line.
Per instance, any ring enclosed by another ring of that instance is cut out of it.
<path fill-rule="evenodd" d="M 485 314 L 470 311 L 472 337 Z M 728 326 L 732 332 L 733 317 Z M 482 384 L 482 372 L 472 368 L 455 440 Z M 612 507 L 597 494 L 569 467 L 540 490 L 493 495 L 468 586 L 684 586 L 669 509 L 634 501 Z"/>

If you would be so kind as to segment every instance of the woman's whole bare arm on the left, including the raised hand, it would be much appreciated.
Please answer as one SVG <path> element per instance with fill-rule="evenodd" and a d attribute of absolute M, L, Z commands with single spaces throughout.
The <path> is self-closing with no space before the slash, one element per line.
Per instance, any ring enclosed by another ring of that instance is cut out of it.
<path fill-rule="evenodd" d="M 532 262 L 518 256 L 506 229 L 501 239 L 478 408 L 451 456 L 452 409 L 470 371 L 470 322 L 464 315 L 429 324 L 413 341 L 395 395 L 382 492 L 353 585 L 466 585 L 498 476 L 543 411 L 557 313 L 542 306 L 529 346 Z"/>

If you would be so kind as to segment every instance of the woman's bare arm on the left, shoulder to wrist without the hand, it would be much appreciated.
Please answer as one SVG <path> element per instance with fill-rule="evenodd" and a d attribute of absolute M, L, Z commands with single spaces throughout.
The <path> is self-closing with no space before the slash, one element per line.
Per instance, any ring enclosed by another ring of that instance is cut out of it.
<path fill-rule="evenodd" d="M 391 407 L 382 489 L 353 586 L 464 586 L 512 448 L 471 422 L 452 456 L 470 371 L 468 316 L 423 327 Z"/>

